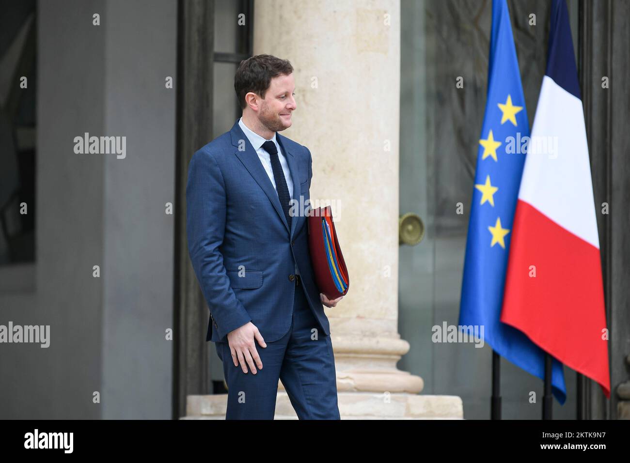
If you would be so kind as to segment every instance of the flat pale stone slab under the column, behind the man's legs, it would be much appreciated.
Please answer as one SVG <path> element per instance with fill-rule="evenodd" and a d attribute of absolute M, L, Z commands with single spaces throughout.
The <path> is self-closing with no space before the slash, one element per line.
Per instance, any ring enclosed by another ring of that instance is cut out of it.
<path fill-rule="evenodd" d="M 463 420 L 458 396 L 338 392 L 341 420 Z M 227 394 L 188 396 L 181 420 L 225 420 Z M 297 420 L 286 392 L 278 392 L 275 420 Z"/>

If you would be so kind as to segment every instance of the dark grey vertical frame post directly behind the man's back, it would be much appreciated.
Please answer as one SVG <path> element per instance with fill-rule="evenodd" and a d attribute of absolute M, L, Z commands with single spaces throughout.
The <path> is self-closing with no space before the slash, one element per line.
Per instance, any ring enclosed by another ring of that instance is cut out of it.
<path fill-rule="evenodd" d="M 212 140 L 214 0 L 180 0 L 177 44 L 175 166 L 175 291 L 173 310 L 173 418 L 185 416 L 188 394 L 211 394 L 209 312 L 193 272 L 186 241 L 186 178 L 190 158 Z"/>

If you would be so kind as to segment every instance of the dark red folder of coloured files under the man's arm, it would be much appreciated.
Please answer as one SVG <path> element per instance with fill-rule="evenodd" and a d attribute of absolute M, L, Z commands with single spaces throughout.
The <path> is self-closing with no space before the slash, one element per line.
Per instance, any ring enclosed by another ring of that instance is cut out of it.
<path fill-rule="evenodd" d="M 319 292 L 328 299 L 347 294 L 350 279 L 341 254 L 333 212 L 330 206 L 311 209 L 307 217 L 309 249 Z"/>

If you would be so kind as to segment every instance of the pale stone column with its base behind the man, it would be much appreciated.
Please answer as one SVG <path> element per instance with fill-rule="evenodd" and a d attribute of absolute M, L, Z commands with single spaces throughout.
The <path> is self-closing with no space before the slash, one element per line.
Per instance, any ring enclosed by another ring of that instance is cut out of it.
<path fill-rule="evenodd" d="M 294 67 L 297 109 L 282 134 L 311 150 L 312 205 L 332 206 L 350 275 L 326 308 L 341 418 L 462 418 L 459 397 L 418 395 L 421 377 L 396 369 L 410 348 L 398 334 L 399 0 L 263 0 L 254 11 L 254 54 Z M 217 401 L 189 396 L 186 418 L 221 418 Z M 279 382 L 275 418 L 295 416 Z"/>

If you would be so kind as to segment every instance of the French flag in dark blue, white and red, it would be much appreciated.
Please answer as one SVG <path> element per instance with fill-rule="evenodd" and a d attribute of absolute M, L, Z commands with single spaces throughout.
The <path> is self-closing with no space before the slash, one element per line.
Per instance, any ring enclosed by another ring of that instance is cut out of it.
<path fill-rule="evenodd" d="M 564 0 L 554 0 L 518 191 L 501 321 L 610 397 L 602 267 L 584 113 Z"/>

